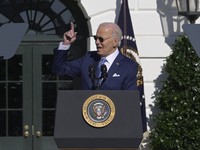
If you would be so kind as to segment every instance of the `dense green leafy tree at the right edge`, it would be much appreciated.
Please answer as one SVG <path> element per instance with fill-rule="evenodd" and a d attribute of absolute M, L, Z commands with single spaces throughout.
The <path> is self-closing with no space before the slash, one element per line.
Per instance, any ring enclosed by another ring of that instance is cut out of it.
<path fill-rule="evenodd" d="M 200 44 L 200 41 L 199 41 Z M 156 96 L 150 133 L 154 150 L 200 150 L 200 58 L 185 35 L 172 45 L 166 81 Z"/>

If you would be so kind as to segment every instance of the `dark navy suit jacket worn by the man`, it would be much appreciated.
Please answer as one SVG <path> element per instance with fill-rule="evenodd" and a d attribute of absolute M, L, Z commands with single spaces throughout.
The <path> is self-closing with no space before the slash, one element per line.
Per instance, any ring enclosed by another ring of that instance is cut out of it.
<path fill-rule="evenodd" d="M 58 75 L 81 77 L 83 90 L 94 89 L 89 77 L 88 67 L 95 66 L 97 70 L 100 56 L 96 51 L 87 52 L 82 58 L 71 62 L 66 61 L 68 50 L 54 49 L 52 71 Z M 108 71 L 108 77 L 101 90 L 137 90 L 138 64 L 119 52 Z"/>

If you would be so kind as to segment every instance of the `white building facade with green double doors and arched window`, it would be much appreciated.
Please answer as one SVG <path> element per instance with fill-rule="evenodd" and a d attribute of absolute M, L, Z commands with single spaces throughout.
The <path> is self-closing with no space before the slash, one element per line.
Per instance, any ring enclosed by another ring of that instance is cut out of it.
<path fill-rule="evenodd" d="M 160 81 L 167 77 L 163 70 L 166 57 L 171 54 L 175 39 L 184 34 L 182 25 L 189 22 L 178 16 L 176 0 L 127 1 L 143 69 L 150 132 L 155 125 L 152 116 L 158 112 L 155 97 L 162 86 Z M 94 51 L 92 36 L 100 23 L 117 23 L 121 3 L 122 0 L 0 0 L 0 27 L 7 23 L 29 25 L 15 56 L 0 61 L 0 150 L 58 150 L 54 140 L 57 91 L 80 89 L 80 80 L 52 73 L 53 49 L 74 22 L 78 36 L 69 59 Z M 140 149 L 149 150 L 148 143 L 147 137 Z"/>

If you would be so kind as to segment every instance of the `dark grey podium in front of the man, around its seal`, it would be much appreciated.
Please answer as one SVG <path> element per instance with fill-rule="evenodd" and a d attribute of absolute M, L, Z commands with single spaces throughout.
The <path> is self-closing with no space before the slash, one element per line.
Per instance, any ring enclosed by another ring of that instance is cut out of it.
<path fill-rule="evenodd" d="M 83 115 L 83 106 L 95 95 L 115 106 L 113 120 L 104 127 L 92 126 Z M 54 139 L 60 150 L 136 150 L 142 138 L 138 91 L 58 91 Z"/>

